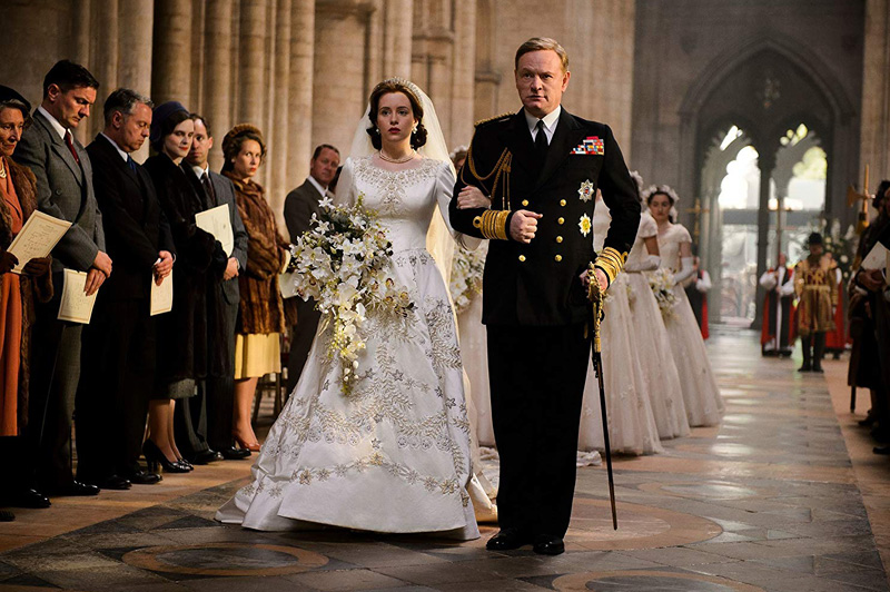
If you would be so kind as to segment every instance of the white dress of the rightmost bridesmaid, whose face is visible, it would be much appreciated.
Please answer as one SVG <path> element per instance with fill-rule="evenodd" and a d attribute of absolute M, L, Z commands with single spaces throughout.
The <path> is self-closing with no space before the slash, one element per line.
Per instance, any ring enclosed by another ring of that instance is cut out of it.
<path fill-rule="evenodd" d="M 683 225 L 669 224 L 659 230 L 661 267 L 673 273 L 680 270 L 680 245 L 683 243 L 692 243 L 692 237 Z M 664 326 L 680 374 L 689 425 L 716 425 L 723 415 L 723 397 L 708 359 L 702 332 L 683 286 L 675 285 L 673 293 L 676 296 L 674 314 L 664 319 Z"/>

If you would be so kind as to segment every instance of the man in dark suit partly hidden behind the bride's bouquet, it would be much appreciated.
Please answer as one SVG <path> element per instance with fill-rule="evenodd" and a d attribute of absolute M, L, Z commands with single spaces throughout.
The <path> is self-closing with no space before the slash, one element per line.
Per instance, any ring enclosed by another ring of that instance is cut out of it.
<path fill-rule="evenodd" d="M 340 152 L 329 144 L 318 146 L 313 152 L 309 177 L 285 198 L 285 224 L 291 241 L 309 229 L 313 214 L 320 211 L 318 201 L 325 196 L 333 197 L 328 186 L 339 165 Z M 288 393 L 294 391 L 299 381 L 320 318 L 322 314 L 315 309 L 315 300 L 297 297 L 297 324 L 290 330 L 290 353 L 287 356 Z"/>

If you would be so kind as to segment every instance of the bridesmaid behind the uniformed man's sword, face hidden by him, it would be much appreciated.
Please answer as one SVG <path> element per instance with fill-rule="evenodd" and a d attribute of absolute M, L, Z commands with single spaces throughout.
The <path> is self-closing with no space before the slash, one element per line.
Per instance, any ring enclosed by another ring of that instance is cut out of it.
<path fill-rule="evenodd" d="M 597 191 L 593 215 L 594 249 L 597 251 L 602 249 L 611 221 L 609 208 Z M 643 371 L 642 352 L 635 343 L 639 339 L 634 339 L 637 320 L 631 313 L 630 296 L 627 274 L 619 274 L 606 292 L 605 318 L 601 327 L 609 438 L 613 452 L 654 454 L 663 452 L 663 448 L 652 411 L 649 381 Z M 591 363 L 584 386 L 578 448 L 602 450 L 602 425 L 600 387 Z"/>

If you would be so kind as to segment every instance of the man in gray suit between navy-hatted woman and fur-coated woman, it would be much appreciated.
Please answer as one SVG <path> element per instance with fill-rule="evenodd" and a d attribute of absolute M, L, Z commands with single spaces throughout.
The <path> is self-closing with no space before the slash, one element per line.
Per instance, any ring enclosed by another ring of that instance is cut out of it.
<path fill-rule="evenodd" d="M 238 206 L 235 186 L 226 177 L 211 172 L 207 164 L 214 137 L 210 124 L 191 114 L 195 136 L 182 169 L 205 199 L 205 208 L 227 205 L 235 238 L 231 254 L 226 255 L 219 241 L 214 263 L 207 274 L 207 318 L 210 349 L 207 378 L 198 384 L 198 395 L 182 399 L 175 416 L 176 441 L 192 463 L 206 464 L 221 455 L 227 460 L 250 456 L 250 451 L 236 448 L 231 437 L 231 415 L 235 402 L 235 322 L 238 317 L 240 290 L 238 274 L 247 266 L 248 236 Z"/>

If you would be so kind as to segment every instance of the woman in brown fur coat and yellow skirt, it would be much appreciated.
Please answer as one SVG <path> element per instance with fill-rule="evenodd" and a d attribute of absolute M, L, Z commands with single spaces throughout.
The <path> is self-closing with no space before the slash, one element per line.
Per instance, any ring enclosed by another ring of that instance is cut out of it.
<path fill-rule="evenodd" d="M 265 189 L 253 177 L 266 155 L 259 129 L 241 124 L 222 139 L 226 162 L 222 175 L 235 184 L 238 214 L 249 237 L 247 267 L 238 275 L 241 300 L 235 334 L 235 441 L 259 451 L 250 425 L 250 407 L 257 381 L 281 371 L 280 338 L 285 310 L 278 274 L 285 264 L 287 244 L 278 234 Z"/>

